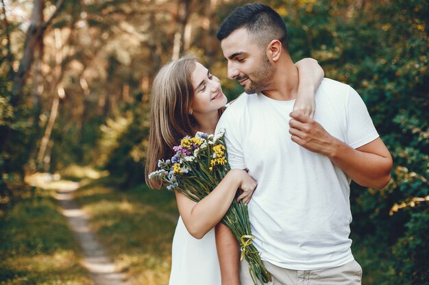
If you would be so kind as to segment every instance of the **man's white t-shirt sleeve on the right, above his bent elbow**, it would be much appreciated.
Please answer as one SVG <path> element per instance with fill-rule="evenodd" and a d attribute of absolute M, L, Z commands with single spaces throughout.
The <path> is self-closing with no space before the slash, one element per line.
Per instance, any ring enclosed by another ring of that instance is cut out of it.
<path fill-rule="evenodd" d="M 378 137 L 379 135 L 369 116 L 367 106 L 365 106 L 358 92 L 349 87 L 347 101 L 347 144 L 352 148 L 359 148 Z"/>

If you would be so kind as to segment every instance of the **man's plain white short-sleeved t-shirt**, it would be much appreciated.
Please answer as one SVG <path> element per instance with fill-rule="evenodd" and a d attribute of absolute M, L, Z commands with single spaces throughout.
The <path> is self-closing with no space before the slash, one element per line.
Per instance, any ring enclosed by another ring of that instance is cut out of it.
<path fill-rule="evenodd" d="M 323 79 L 315 120 L 352 148 L 378 137 L 363 100 L 349 85 Z M 291 141 L 295 100 L 243 94 L 223 113 L 232 168 L 249 170 L 258 186 L 249 202 L 252 242 L 279 267 L 337 267 L 354 258 L 349 239 L 350 179 L 328 159 Z"/>

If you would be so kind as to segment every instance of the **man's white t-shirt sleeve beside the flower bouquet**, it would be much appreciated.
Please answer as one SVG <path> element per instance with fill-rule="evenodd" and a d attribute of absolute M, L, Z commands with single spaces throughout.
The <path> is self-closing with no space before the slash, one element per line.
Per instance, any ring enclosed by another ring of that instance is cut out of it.
<path fill-rule="evenodd" d="M 232 111 L 232 110 L 231 110 Z M 228 152 L 228 162 L 231 169 L 245 169 L 245 161 L 243 155 L 243 144 L 241 143 L 241 131 L 238 120 L 236 120 L 234 113 L 223 113 L 221 119 L 217 123 L 216 131 L 219 128 L 225 129 L 225 143 Z"/>

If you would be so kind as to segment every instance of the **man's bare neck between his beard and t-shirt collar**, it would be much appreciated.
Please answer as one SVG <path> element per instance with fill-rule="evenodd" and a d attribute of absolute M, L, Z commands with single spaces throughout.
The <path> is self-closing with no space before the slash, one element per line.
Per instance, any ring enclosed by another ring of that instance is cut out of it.
<path fill-rule="evenodd" d="M 298 70 L 288 56 L 276 64 L 271 84 L 262 94 L 274 100 L 289 101 L 297 98 L 298 85 Z"/>

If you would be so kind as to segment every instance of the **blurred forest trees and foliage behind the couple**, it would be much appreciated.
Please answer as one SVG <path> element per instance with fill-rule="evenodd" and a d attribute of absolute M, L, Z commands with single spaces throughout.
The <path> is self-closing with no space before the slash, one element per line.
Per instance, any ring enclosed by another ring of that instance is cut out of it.
<path fill-rule="evenodd" d="M 247 2 L 1 0 L 0 228 L 34 196 L 24 181 L 35 172 L 89 165 L 125 195 L 143 185 L 156 72 L 191 51 L 230 99 L 240 94 L 215 33 Z M 358 91 L 393 155 L 387 187 L 352 185 L 363 284 L 429 284 L 428 1 L 263 3 L 284 17 L 295 61 L 313 57 L 326 77 Z M 3 245 L 8 237 L 1 229 Z M 13 254 L 19 249 L 0 249 L 1 259 Z M 0 281 L 11 278 L 0 269 Z"/>

